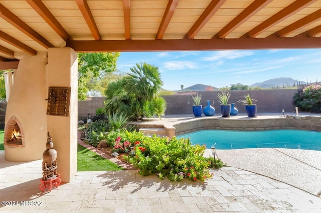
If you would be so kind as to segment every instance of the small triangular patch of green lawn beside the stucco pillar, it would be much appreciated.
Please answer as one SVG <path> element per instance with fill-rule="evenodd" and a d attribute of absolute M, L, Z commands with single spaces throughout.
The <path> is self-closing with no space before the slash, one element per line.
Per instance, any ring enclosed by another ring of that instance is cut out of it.
<path fill-rule="evenodd" d="M 77 171 L 115 171 L 122 167 L 78 144 Z"/>

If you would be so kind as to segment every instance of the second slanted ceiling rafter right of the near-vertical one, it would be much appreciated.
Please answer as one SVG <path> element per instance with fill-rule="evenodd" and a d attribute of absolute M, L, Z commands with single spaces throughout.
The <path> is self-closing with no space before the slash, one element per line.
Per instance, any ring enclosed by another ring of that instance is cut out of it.
<path fill-rule="evenodd" d="M 222 7 L 226 0 L 212 0 L 209 6 L 205 9 L 200 18 L 195 22 L 193 27 L 189 30 L 186 37 L 193 39 L 198 32 L 206 25 L 206 23 L 213 17 L 213 15 Z"/>

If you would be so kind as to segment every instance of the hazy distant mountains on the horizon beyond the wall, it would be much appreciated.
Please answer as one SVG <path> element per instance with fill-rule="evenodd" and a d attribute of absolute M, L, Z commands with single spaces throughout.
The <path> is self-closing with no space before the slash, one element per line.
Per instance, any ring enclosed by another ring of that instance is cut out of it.
<path fill-rule="evenodd" d="M 243 85 L 241 83 L 237 83 L 239 85 Z M 275 88 L 275 87 L 287 87 L 287 86 L 295 86 L 297 84 L 306 84 L 306 81 L 298 81 L 292 78 L 286 78 L 286 77 L 281 77 L 281 78 L 273 78 L 269 80 L 265 80 L 263 82 L 257 82 L 254 84 L 249 85 L 249 87 L 261 87 L 261 88 Z M 183 88 L 183 91 L 189 90 L 189 91 L 204 91 L 206 90 L 206 87 L 213 87 L 214 90 L 218 90 L 219 88 L 211 86 L 211 85 L 205 85 L 205 84 L 195 84 L 193 86 L 189 86 L 186 88 Z M 181 90 L 179 90 L 181 91 Z"/>

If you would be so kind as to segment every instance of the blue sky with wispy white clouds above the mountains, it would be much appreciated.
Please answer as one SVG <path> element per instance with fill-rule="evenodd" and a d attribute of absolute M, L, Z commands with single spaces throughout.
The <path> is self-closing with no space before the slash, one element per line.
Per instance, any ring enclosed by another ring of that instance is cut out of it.
<path fill-rule="evenodd" d="M 140 62 L 158 66 L 168 90 L 197 83 L 219 88 L 251 85 L 278 77 L 321 81 L 321 49 L 123 52 L 117 67 L 128 72 Z"/>

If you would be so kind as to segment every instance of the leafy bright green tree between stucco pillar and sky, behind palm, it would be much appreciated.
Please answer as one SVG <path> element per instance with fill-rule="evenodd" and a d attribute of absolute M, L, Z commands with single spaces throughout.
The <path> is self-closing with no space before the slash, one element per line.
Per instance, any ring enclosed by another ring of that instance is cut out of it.
<path fill-rule="evenodd" d="M 87 92 L 100 92 L 101 81 L 116 70 L 120 53 L 78 53 L 78 99 L 84 100 Z M 107 77 L 107 78 L 106 78 Z"/>

